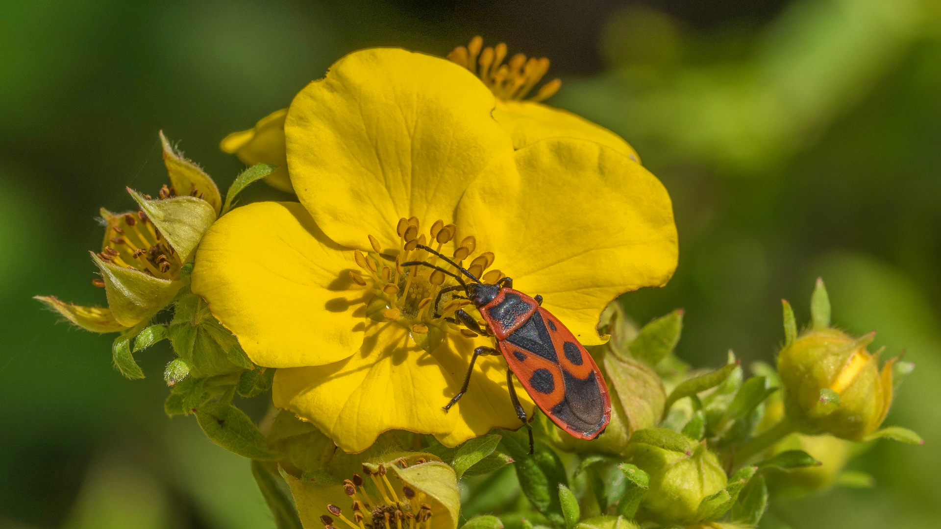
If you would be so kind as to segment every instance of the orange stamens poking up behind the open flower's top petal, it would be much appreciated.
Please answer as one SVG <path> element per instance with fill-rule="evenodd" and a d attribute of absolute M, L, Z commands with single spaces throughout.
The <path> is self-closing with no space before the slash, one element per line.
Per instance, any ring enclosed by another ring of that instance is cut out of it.
<path fill-rule="evenodd" d="M 474 37 L 467 47 L 457 46 L 448 54 L 448 59 L 480 77 L 493 95 L 504 101 L 525 98 L 542 76 L 549 72 L 549 59 L 546 57 L 531 57 L 527 60 L 523 54 L 517 54 L 510 57 L 507 64 L 503 64 L 503 59 L 506 58 L 506 44 L 501 42 L 493 48 L 487 46 L 481 50 L 483 46 L 484 40 Z M 553 79 L 540 87 L 529 100 L 545 101 L 561 86 L 561 80 Z"/>

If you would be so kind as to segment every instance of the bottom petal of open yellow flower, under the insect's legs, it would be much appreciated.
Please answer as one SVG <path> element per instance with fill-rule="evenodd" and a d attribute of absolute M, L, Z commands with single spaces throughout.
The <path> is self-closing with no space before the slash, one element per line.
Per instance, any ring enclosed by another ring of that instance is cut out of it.
<path fill-rule="evenodd" d="M 360 351 L 346 360 L 279 369 L 272 396 L 275 406 L 294 411 L 353 453 L 393 428 L 436 434 L 448 446 L 494 427 L 518 428 L 506 367 L 495 357 L 479 359 L 468 393 L 450 412 L 441 409 L 459 391 L 475 345 L 449 338 L 429 355 L 402 326 L 374 322 Z M 523 402 L 532 411 L 532 403 Z"/>

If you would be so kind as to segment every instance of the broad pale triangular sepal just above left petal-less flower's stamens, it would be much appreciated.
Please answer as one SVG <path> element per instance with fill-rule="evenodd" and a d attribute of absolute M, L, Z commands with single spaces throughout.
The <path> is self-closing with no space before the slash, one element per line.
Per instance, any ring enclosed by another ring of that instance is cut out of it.
<path fill-rule="evenodd" d="M 130 187 L 127 192 L 136 200 L 141 211 L 147 214 L 153 226 L 167 239 L 167 243 L 186 263 L 199 246 L 209 227 L 215 222 L 215 210 L 206 200 L 196 197 L 172 197 L 164 200 L 147 200 Z"/>

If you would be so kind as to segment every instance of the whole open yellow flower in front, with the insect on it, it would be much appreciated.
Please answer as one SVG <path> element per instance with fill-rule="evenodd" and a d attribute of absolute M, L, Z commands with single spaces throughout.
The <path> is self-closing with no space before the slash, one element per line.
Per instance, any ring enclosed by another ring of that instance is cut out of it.
<path fill-rule="evenodd" d="M 493 341 L 445 319 L 465 300 L 432 302 L 453 278 L 400 265 L 429 259 L 416 245 L 488 282 L 513 277 L 584 345 L 602 342 L 595 327 L 611 299 L 664 284 L 676 266 L 670 200 L 653 175 L 581 138 L 514 150 L 495 104 L 444 59 L 345 56 L 288 112 L 300 203 L 237 208 L 199 246 L 193 292 L 252 361 L 279 368 L 275 405 L 347 452 L 393 428 L 455 446 L 519 427 L 496 357 L 481 358 L 469 392 L 441 409 L 474 347 Z"/>

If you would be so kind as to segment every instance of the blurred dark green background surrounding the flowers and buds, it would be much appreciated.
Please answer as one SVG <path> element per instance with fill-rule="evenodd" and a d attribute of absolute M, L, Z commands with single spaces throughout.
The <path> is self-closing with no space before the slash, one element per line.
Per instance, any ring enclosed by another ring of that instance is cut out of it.
<path fill-rule="evenodd" d="M 113 337 L 55 325 L 33 295 L 104 303 L 98 208 L 165 182 L 157 131 L 225 188 L 218 141 L 286 106 L 346 52 L 444 55 L 481 34 L 549 56 L 566 107 L 626 137 L 674 200 L 677 275 L 626 297 L 686 309 L 696 366 L 774 358 L 780 298 L 878 329 L 917 369 L 874 489 L 780 500 L 766 524 L 941 520 L 941 3 L 936 0 L 82 2 L 0 4 L 0 527 L 274 527 L 247 460 L 167 419 L 166 348 L 112 369 Z M 282 199 L 258 185 L 252 200 Z M 166 344 L 166 343 L 165 343 Z"/>

